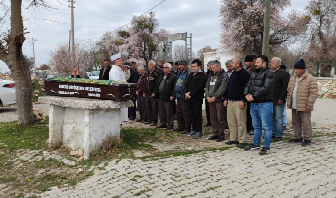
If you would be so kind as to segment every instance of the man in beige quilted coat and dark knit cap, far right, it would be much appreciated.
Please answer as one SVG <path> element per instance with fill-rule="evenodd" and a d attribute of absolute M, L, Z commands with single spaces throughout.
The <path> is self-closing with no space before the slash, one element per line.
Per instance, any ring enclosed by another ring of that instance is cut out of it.
<path fill-rule="evenodd" d="M 287 87 L 287 106 L 292 109 L 292 126 L 294 138 L 289 143 L 301 143 L 310 146 L 311 122 L 310 114 L 318 96 L 317 80 L 306 70 L 306 64 L 300 59 L 294 65 L 295 74 L 290 78 Z M 302 127 L 304 142 L 302 142 Z"/>

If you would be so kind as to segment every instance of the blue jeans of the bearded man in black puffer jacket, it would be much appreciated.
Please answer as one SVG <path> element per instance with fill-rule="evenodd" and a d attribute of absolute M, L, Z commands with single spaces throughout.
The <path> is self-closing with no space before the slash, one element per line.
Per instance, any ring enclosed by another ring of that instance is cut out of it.
<path fill-rule="evenodd" d="M 272 137 L 271 117 L 273 103 L 251 103 L 251 117 L 254 127 L 253 144 L 258 146 L 264 130 L 264 147 L 269 148 Z"/>

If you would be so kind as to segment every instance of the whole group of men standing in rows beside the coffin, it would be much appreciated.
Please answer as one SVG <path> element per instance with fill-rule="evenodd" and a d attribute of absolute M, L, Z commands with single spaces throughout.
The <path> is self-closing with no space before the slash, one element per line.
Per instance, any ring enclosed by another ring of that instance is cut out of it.
<path fill-rule="evenodd" d="M 269 59 L 264 55 L 228 60 L 226 72 L 218 60 L 213 60 L 208 62 L 206 73 L 199 59 L 193 60 L 191 67 L 186 59 L 180 59 L 175 63 L 177 71 L 172 62 L 157 64 L 151 60 L 147 69 L 137 67 L 135 62 L 121 64 L 120 55 L 111 59 L 116 59 L 112 60 L 115 63 L 112 68 L 120 67 L 121 77 L 111 75 L 110 60 L 106 59 L 99 79 L 109 77 L 109 80 L 124 79 L 138 84 L 136 106 L 140 118 L 136 122 L 201 138 L 205 98 L 207 123 L 204 126 L 211 126 L 213 132 L 209 140 L 223 141 L 224 130 L 229 129 L 229 141 L 225 144 L 237 144 L 246 151 L 256 150 L 265 155 L 270 151 L 271 139 L 280 141 L 286 130 L 287 100 L 294 129 L 294 138 L 288 142 L 310 145 L 310 114 L 318 86 L 317 80 L 307 72 L 303 59 L 294 65 L 292 76 L 279 57 L 272 58 L 269 67 Z M 135 99 L 133 102 L 135 105 Z M 128 118 L 135 120 L 135 115 L 135 107 L 129 108 Z M 175 115 L 177 127 L 174 128 Z M 254 135 L 250 146 L 246 142 L 248 134 Z M 264 144 L 260 147 L 262 137 Z"/>

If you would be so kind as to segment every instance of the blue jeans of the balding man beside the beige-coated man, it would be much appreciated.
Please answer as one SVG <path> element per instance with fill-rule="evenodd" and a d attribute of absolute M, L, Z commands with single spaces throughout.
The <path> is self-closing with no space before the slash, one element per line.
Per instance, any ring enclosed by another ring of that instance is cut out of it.
<path fill-rule="evenodd" d="M 272 136 L 282 138 L 284 131 L 284 110 L 285 104 L 273 106 L 272 114 Z"/>

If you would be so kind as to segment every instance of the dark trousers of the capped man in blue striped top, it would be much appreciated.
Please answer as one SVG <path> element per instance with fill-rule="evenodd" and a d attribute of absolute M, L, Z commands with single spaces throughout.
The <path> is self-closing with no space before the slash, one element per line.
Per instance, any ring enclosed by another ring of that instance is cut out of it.
<path fill-rule="evenodd" d="M 176 98 L 176 120 L 179 129 L 191 130 L 188 101 Z"/>

